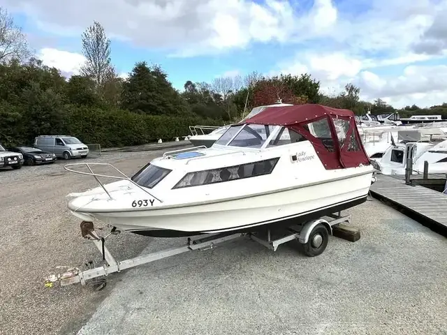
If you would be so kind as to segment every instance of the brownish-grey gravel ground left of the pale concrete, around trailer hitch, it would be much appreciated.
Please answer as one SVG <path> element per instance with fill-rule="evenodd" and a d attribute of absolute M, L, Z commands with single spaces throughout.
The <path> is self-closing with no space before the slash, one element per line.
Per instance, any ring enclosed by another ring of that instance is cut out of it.
<path fill-rule="evenodd" d="M 131 175 L 163 151 L 103 153 L 69 163 L 113 163 Z M 47 274 L 84 260 L 100 260 L 94 245 L 81 237 L 80 221 L 69 213 L 65 198 L 97 186 L 96 181 L 67 172 L 65 163 L 0 169 L 0 334 L 74 334 L 107 295 L 108 290 L 96 292 L 80 285 L 64 290 L 44 287 Z M 129 258 L 149 241 L 119 234 L 108 247 Z"/>

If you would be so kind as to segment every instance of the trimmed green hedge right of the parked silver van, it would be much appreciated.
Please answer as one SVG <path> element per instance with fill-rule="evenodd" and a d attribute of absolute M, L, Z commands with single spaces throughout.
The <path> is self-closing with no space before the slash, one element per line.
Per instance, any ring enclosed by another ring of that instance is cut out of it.
<path fill-rule="evenodd" d="M 175 137 L 190 135 L 189 126 L 221 126 L 223 121 L 201 117 L 170 117 L 135 114 L 126 110 L 91 110 L 73 107 L 67 111 L 64 122 L 66 135 L 78 137 L 84 143 L 99 143 L 101 147 L 172 141 Z"/>

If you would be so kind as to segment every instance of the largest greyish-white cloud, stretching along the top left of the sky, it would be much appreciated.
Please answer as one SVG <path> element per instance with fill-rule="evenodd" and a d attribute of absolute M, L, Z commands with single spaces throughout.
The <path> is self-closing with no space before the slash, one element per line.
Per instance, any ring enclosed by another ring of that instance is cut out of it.
<path fill-rule="evenodd" d="M 256 41 L 288 43 L 296 34 L 307 38 L 327 34 L 337 22 L 332 0 L 316 0 L 310 10 L 299 15 L 287 0 L 3 2 L 27 13 L 51 34 L 78 37 L 96 20 L 109 36 L 177 56 L 213 54 Z"/>

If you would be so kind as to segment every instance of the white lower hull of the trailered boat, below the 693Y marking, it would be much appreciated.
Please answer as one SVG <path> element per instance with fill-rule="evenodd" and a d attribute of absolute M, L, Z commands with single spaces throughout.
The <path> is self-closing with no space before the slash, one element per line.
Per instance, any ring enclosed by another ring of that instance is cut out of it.
<path fill-rule="evenodd" d="M 119 230 L 154 237 L 256 230 L 308 221 L 365 202 L 372 172 L 247 198 L 145 211 L 90 213 Z M 73 212 L 82 218 L 82 212 Z M 85 218 L 82 218 L 85 220 Z"/>

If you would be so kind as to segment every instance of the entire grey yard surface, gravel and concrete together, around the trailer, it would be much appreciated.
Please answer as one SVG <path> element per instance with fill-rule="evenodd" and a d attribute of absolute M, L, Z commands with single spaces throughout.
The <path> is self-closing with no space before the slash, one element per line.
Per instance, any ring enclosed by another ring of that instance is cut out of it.
<path fill-rule="evenodd" d="M 131 175 L 163 151 L 88 161 Z M 447 334 L 446 238 L 376 200 L 350 211 L 360 241 L 333 238 L 317 258 L 237 240 L 114 274 L 99 292 L 45 288 L 47 274 L 100 260 L 64 198 L 96 181 L 63 163 L 0 170 L 0 334 Z M 182 242 L 119 234 L 108 248 L 125 259 Z"/>

